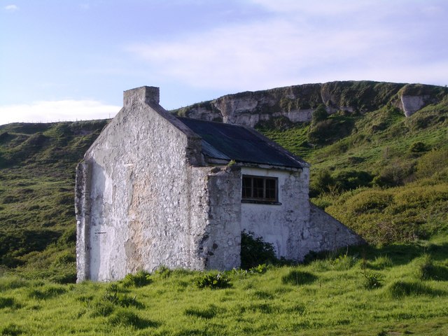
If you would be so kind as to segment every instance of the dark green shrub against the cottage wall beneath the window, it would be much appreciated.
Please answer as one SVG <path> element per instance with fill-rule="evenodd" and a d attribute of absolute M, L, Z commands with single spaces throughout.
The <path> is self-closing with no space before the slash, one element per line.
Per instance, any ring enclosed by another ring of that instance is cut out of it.
<path fill-rule="evenodd" d="M 253 232 L 241 232 L 241 268 L 251 269 L 260 264 L 273 264 L 277 261 L 274 246 L 255 238 Z"/>

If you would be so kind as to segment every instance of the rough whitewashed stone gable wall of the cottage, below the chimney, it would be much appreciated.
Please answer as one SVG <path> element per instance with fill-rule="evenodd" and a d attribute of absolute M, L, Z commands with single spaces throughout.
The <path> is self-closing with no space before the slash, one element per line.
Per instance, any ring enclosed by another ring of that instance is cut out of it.
<path fill-rule="evenodd" d="M 122 279 L 160 265 L 204 268 L 194 232 L 206 225 L 207 169 L 188 164 L 196 140 L 148 104 L 131 106 L 78 169 L 78 281 Z"/>

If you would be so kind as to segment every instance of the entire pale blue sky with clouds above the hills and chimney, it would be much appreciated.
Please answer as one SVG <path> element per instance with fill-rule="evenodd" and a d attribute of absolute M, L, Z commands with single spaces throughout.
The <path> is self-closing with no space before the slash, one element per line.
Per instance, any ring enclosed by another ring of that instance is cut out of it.
<path fill-rule="evenodd" d="M 0 125 L 332 80 L 448 85 L 447 0 L 0 0 Z"/>

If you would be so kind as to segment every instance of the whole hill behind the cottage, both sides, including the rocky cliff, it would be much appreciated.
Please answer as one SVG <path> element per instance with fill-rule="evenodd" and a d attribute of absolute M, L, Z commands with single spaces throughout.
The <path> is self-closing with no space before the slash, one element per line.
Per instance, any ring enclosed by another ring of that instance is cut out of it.
<path fill-rule="evenodd" d="M 242 109 L 239 101 L 256 104 Z M 242 92 L 214 102 L 241 108 L 225 110 L 238 113 L 221 118 L 258 120 L 254 125 L 260 132 L 309 161 L 313 201 L 368 241 L 414 241 L 446 232 L 446 88 L 334 82 Z M 214 102 L 174 113 L 214 119 L 219 105 Z M 319 107 L 322 102 L 326 105 Z M 419 111 L 406 113 L 411 105 L 420 106 Z M 188 112 L 203 109 L 213 111 Z M 316 118 L 318 109 L 330 115 Z M 302 110 L 308 111 L 309 121 L 289 118 Z M 74 170 L 106 123 L 0 126 L 3 270 L 59 282 L 74 280 Z"/>

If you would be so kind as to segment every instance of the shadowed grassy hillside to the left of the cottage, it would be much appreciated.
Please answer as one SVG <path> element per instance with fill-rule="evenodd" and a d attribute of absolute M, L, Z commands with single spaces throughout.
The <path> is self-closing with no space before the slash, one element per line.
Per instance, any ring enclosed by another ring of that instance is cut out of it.
<path fill-rule="evenodd" d="M 104 125 L 0 126 L 0 273 L 76 280 L 74 172 Z"/>

